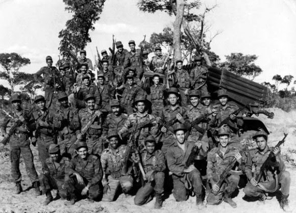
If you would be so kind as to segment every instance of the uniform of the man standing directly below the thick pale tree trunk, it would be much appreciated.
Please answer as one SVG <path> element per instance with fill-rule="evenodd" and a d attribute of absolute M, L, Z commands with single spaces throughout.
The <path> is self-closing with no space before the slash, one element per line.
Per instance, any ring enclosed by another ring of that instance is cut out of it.
<path fill-rule="evenodd" d="M 188 72 L 186 70 L 177 70 L 176 72 L 177 76 L 177 87 L 179 89 L 179 93 L 181 96 L 181 102 L 182 106 L 185 107 L 187 106 L 187 96 L 185 95 L 185 90 L 189 89 L 190 86 L 190 78 L 188 75 Z"/>

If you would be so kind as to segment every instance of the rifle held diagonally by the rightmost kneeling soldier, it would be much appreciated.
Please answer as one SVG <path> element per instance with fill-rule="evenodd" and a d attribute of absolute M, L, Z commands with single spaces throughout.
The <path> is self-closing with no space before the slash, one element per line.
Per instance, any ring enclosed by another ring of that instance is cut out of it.
<path fill-rule="evenodd" d="M 277 144 L 274 148 L 276 148 L 276 147 L 280 147 L 282 144 L 284 144 L 287 135 L 288 135 L 288 134 L 285 134 L 285 133 L 284 133 L 284 138 L 283 138 L 282 140 L 280 140 L 280 141 L 278 142 L 278 144 Z M 270 151 L 270 153 L 269 153 L 267 159 L 266 159 L 266 160 L 264 161 L 264 163 L 262 164 L 262 166 L 261 166 L 261 168 L 260 168 L 260 172 L 259 172 L 259 174 L 257 174 L 257 176 L 256 176 L 256 181 L 257 181 L 257 182 L 260 181 L 260 179 L 262 178 L 262 176 L 263 176 L 263 179 L 266 180 L 266 174 L 265 174 L 265 172 L 266 172 L 270 167 L 279 167 L 279 163 L 276 161 L 276 156 L 275 156 L 273 150 Z"/>

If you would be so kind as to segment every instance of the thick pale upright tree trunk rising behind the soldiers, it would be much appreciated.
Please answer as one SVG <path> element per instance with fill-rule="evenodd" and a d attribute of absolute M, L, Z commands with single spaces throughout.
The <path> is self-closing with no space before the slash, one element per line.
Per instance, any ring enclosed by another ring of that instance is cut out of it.
<path fill-rule="evenodd" d="M 175 49 L 175 62 L 178 59 L 182 59 L 181 52 L 181 26 L 184 15 L 185 2 L 184 0 L 177 0 L 176 4 L 176 19 L 174 22 L 174 37 L 173 46 Z"/>

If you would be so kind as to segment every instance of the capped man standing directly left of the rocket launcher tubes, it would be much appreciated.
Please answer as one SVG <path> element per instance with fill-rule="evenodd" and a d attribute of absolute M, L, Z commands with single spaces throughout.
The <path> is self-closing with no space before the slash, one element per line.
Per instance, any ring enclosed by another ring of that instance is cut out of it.
<path fill-rule="evenodd" d="M 208 68 L 202 65 L 202 59 L 202 56 L 197 56 L 194 58 L 196 66 L 190 72 L 190 82 L 194 89 L 199 89 L 201 87 L 203 88 L 203 86 L 201 86 L 202 84 L 206 86 L 206 84 L 201 82 L 201 80 L 207 79 Z M 207 88 L 206 90 L 203 88 L 203 91 L 206 92 Z"/>

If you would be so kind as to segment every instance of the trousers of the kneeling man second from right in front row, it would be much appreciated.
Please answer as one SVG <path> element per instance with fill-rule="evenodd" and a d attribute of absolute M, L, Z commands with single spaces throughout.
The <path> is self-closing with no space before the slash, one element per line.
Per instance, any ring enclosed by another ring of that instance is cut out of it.
<path fill-rule="evenodd" d="M 214 181 L 218 181 L 218 177 L 214 178 Z M 209 192 L 207 203 L 209 205 L 218 205 L 223 201 L 224 194 L 232 195 L 232 193 L 237 188 L 239 182 L 239 175 L 231 174 L 226 178 L 226 181 L 220 187 L 217 195 L 214 195 L 212 192 Z"/>

